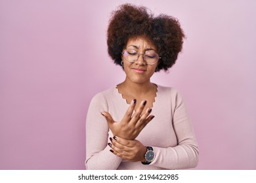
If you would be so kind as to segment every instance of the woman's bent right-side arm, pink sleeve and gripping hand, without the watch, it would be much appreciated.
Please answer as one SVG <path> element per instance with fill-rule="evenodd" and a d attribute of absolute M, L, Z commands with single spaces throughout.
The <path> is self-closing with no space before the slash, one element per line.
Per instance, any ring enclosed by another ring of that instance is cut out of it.
<path fill-rule="evenodd" d="M 156 157 L 150 165 L 165 169 L 188 169 L 198 165 L 198 145 L 182 97 L 179 93 L 176 94 L 175 99 L 172 100 L 173 108 L 171 112 L 173 116 L 172 124 L 177 137 L 177 146 L 167 148 L 153 146 Z M 112 144 L 114 154 L 117 156 L 128 161 L 138 161 L 139 156 L 141 161 L 139 152 L 144 148 L 141 147 L 139 141 L 133 142 L 117 137 L 117 142 L 114 141 Z M 135 144 L 140 146 L 135 146 Z M 135 149 L 135 147 L 137 148 Z M 135 154 L 137 155 L 135 156 Z"/>

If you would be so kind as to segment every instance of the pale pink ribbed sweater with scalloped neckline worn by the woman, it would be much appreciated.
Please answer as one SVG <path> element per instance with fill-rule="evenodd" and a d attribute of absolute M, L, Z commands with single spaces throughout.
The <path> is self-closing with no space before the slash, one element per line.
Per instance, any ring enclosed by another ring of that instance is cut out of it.
<path fill-rule="evenodd" d="M 155 118 L 136 138 L 144 146 L 152 146 L 156 157 L 150 165 L 124 161 L 110 152 L 109 137 L 113 137 L 106 119 L 100 112 L 110 112 L 121 121 L 129 105 L 116 87 L 93 97 L 87 112 L 87 169 L 188 169 L 198 165 L 198 144 L 188 112 L 177 90 L 158 86 L 152 115 Z"/>

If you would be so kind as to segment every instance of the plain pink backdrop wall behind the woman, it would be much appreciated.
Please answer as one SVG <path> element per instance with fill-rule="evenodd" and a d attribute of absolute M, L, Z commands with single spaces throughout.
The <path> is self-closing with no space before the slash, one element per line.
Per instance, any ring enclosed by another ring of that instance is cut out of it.
<path fill-rule="evenodd" d="M 0 169 L 85 169 L 95 93 L 125 75 L 106 28 L 121 3 L 177 17 L 177 64 L 152 82 L 183 95 L 200 146 L 196 169 L 256 169 L 256 1 L 0 0 Z"/>

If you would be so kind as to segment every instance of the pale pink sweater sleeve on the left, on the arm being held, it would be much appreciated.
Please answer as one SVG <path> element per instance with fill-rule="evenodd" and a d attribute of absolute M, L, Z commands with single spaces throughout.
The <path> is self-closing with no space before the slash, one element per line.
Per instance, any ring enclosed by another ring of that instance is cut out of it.
<path fill-rule="evenodd" d="M 86 169 L 117 169 L 121 158 L 110 152 L 108 124 L 100 112 L 108 111 L 104 95 L 93 97 L 86 120 Z"/>

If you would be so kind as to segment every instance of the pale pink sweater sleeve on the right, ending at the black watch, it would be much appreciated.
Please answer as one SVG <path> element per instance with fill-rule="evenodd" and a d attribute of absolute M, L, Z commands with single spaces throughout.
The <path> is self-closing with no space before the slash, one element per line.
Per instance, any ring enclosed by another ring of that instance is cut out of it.
<path fill-rule="evenodd" d="M 193 168 L 198 165 L 198 144 L 181 95 L 177 91 L 172 93 L 171 116 L 173 118 L 171 122 L 177 145 L 167 148 L 154 146 L 156 158 L 151 164 L 164 169 Z"/>

